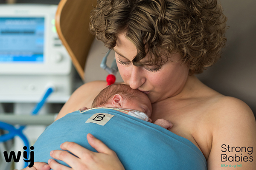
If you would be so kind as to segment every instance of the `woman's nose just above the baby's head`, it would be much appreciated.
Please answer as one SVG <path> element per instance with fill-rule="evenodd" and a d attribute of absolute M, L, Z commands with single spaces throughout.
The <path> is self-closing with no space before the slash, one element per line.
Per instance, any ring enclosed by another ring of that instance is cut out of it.
<path fill-rule="evenodd" d="M 137 89 L 145 83 L 146 78 L 143 75 L 142 67 L 137 67 L 134 65 L 132 67 L 133 68 L 131 70 L 131 77 L 130 77 L 129 85 L 132 89 Z"/>

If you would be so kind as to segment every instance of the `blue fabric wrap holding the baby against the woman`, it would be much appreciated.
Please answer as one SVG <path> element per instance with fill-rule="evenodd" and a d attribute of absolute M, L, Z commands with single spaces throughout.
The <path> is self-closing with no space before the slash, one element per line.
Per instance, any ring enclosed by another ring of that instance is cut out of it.
<path fill-rule="evenodd" d="M 95 113 L 114 116 L 104 126 L 85 123 Z M 114 150 L 125 170 L 207 170 L 204 155 L 188 139 L 153 123 L 103 108 L 69 113 L 49 125 L 34 144 L 35 161 L 47 162 L 50 151 L 60 150 L 61 143 L 66 141 L 96 152 L 87 142 L 87 133 Z"/>

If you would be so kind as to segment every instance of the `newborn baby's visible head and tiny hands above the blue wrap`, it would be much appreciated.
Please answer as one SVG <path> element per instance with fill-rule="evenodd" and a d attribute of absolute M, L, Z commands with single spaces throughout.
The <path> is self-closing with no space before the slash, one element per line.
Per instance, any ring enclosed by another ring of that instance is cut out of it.
<path fill-rule="evenodd" d="M 122 113 L 152 122 L 150 119 L 152 106 L 148 96 L 137 89 L 130 88 L 129 85 L 113 84 L 104 88 L 93 100 L 92 108 L 99 107 L 120 108 L 118 110 Z M 84 107 L 79 111 L 86 111 L 87 109 Z M 165 119 L 157 119 L 154 124 L 166 129 L 172 127 L 172 123 Z"/>

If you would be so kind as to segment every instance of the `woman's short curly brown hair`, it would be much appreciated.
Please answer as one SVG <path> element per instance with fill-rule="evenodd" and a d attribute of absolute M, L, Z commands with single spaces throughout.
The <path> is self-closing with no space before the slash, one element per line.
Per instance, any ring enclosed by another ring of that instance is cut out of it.
<path fill-rule="evenodd" d="M 178 52 L 198 74 L 220 58 L 227 41 L 222 11 L 217 0 L 98 0 L 90 31 L 110 49 L 125 32 L 137 48 L 136 66 L 148 53 L 151 65 L 162 65 L 163 56 Z"/>

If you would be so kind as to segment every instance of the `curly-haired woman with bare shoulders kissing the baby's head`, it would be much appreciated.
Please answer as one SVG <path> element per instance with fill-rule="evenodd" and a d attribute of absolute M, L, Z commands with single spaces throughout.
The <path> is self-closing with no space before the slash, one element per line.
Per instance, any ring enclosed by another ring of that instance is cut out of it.
<path fill-rule="evenodd" d="M 91 19 L 93 34 L 115 51 L 124 83 L 148 95 L 153 122 L 171 121 L 170 131 L 201 150 L 208 170 L 256 167 L 256 122 L 250 108 L 212 90 L 194 75 L 220 58 L 226 42 L 226 17 L 217 0 L 105 0 L 99 1 Z M 100 81 L 82 85 L 57 119 L 89 108 L 105 86 Z M 77 157 L 60 150 L 51 156 L 74 170 L 124 169 L 105 144 L 90 134 L 87 139 L 99 153 L 65 142 L 61 149 Z M 69 169 L 54 160 L 48 163 L 54 170 Z M 49 166 L 35 163 L 33 168 Z"/>

